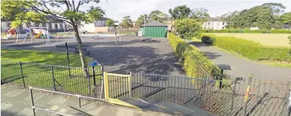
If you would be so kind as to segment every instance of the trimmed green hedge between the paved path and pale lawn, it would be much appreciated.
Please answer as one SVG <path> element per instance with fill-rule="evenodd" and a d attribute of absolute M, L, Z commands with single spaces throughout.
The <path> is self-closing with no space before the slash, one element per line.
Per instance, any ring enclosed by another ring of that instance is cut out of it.
<path fill-rule="evenodd" d="M 291 48 L 262 46 L 260 43 L 247 41 L 242 38 L 214 36 L 213 34 L 209 34 L 206 37 L 204 36 L 204 38 L 208 38 L 213 41 L 213 43 L 208 44 L 218 46 L 219 48 L 223 48 L 227 51 L 234 51 L 252 60 L 291 62 Z M 206 42 L 203 41 L 203 43 Z"/>

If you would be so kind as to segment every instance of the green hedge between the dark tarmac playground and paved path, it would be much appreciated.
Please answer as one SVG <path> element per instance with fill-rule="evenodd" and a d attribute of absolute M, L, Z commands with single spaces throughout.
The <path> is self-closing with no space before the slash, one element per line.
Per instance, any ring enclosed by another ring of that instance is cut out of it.
<path fill-rule="evenodd" d="M 173 33 L 169 34 L 168 41 L 189 77 L 205 78 L 220 75 L 217 66 L 195 46 L 183 42 L 181 38 L 178 38 Z"/>

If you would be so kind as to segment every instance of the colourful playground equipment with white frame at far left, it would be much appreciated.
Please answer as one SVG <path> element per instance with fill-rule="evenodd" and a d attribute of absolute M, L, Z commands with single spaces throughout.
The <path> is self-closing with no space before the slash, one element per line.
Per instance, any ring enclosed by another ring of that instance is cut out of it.
<path fill-rule="evenodd" d="M 39 38 L 46 38 L 46 45 L 48 45 L 48 43 L 50 43 L 50 41 L 49 41 L 50 33 L 48 32 L 47 27 L 26 28 L 26 36 L 24 36 L 24 42 L 25 42 L 26 38 L 29 36 L 31 38 L 31 43 L 32 43 L 33 39 L 39 39 Z"/>

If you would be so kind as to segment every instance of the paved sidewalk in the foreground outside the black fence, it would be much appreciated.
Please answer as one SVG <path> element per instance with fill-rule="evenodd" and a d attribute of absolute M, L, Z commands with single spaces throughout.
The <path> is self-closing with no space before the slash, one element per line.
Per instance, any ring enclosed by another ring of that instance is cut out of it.
<path fill-rule="evenodd" d="M 132 101 L 132 100 L 131 100 Z M 136 100 L 137 101 L 137 100 Z M 155 102 L 155 104 L 138 101 L 132 102 L 143 110 L 131 107 L 111 105 L 105 102 L 81 99 L 81 108 L 78 107 L 76 97 L 56 95 L 34 90 L 34 105 L 49 110 L 55 110 L 68 115 L 118 115 L 118 116 L 163 116 L 163 115 L 213 115 L 199 109 L 189 109 L 182 105 L 170 102 Z M 168 107 L 167 107 L 168 106 Z M 1 115 L 24 116 L 32 115 L 31 97 L 29 89 L 11 85 L 1 85 Z M 56 116 L 51 112 L 36 110 L 36 115 Z"/>

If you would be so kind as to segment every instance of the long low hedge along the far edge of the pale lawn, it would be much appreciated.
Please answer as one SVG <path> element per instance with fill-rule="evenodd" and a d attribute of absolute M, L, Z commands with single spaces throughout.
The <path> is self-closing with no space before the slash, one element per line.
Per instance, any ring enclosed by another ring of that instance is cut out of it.
<path fill-rule="evenodd" d="M 230 28 L 230 29 L 221 29 L 221 30 L 201 30 L 202 33 L 291 33 L 291 30 L 267 30 L 267 29 L 262 29 L 262 30 L 250 30 L 248 28 L 245 29 L 235 29 L 235 28 Z"/>

